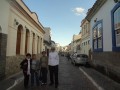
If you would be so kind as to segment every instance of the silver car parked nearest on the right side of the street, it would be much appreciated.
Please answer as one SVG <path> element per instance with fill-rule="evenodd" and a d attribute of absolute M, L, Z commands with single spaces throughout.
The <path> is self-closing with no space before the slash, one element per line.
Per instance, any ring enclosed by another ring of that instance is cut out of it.
<path fill-rule="evenodd" d="M 88 64 L 88 55 L 86 54 L 75 54 L 72 56 L 71 62 L 74 65 L 81 64 L 86 65 Z"/>

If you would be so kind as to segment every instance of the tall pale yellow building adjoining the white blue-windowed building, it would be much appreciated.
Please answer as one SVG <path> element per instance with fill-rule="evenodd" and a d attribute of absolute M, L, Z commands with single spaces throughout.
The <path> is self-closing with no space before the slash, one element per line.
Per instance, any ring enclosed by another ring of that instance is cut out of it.
<path fill-rule="evenodd" d="M 81 22 L 82 28 L 82 43 L 81 43 L 81 53 L 89 55 L 90 50 L 90 23 L 86 19 Z"/>

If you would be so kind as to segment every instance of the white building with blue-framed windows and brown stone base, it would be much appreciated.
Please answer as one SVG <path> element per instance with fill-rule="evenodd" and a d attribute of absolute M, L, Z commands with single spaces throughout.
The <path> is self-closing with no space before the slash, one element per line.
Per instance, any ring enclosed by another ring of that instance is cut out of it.
<path fill-rule="evenodd" d="M 97 0 L 86 19 L 90 21 L 93 65 L 120 81 L 120 3 L 115 1 Z"/>

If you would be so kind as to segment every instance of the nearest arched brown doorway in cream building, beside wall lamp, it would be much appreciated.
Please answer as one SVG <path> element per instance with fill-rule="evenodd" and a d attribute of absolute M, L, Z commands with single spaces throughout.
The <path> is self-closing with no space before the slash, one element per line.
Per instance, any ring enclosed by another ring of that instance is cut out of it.
<path fill-rule="evenodd" d="M 17 41 L 16 41 L 16 54 L 20 54 L 20 44 L 21 44 L 21 32 L 23 30 L 23 26 L 19 25 L 17 29 Z"/>

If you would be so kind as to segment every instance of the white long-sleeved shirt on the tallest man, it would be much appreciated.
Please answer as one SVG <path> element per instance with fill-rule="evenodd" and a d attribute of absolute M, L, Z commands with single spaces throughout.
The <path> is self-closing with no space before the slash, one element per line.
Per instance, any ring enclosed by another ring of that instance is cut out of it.
<path fill-rule="evenodd" d="M 57 52 L 50 52 L 49 53 L 48 65 L 50 65 L 50 66 L 59 65 L 59 55 Z"/>

